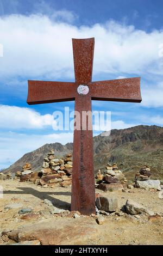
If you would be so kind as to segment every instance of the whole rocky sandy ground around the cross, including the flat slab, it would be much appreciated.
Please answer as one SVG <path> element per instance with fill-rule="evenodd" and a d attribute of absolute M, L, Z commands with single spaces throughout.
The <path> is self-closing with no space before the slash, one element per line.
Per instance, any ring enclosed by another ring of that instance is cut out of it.
<path fill-rule="evenodd" d="M 32 182 L 12 179 L 1 181 L 1 186 L 4 189 L 4 196 L 0 199 L 1 245 L 23 243 L 26 240 L 35 245 L 163 244 L 163 199 L 159 198 L 159 191 L 125 188 L 125 192 L 103 192 L 96 189 L 96 193 L 99 192 L 101 196 L 118 199 L 116 212 L 109 216 L 100 215 L 102 219 L 99 225 L 97 216 L 80 216 L 78 212 L 68 212 L 71 187 L 45 188 Z M 53 206 L 46 204 L 48 201 L 45 199 L 51 200 Z M 153 211 L 154 216 L 122 212 L 120 209 L 128 199 Z M 53 214 L 54 206 L 67 211 Z M 27 209 L 27 213 L 24 214 L 21 209 Z M 30 209 L 32 211 L 28 212 Z"/>

